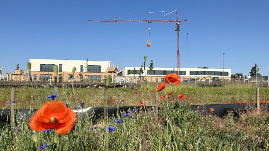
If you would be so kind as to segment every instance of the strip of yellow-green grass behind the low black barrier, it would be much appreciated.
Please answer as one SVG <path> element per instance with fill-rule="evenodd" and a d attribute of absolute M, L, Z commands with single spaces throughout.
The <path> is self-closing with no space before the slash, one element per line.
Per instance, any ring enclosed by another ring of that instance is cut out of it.
<path fill-rule="evenodd" d="M 155 85 L 149 85 L 150 96 L 148 95 L 146 86 L 142 86 L 144 102 L 150 105 L 154 103 Z M 171 91 L 171 85 L 164 89 L 168 94 Z M 69 104 L 70 107 L 77 107 L 79 100 L 83 100 L 88 106 L 103 106 L 104 89 L 99 88 L 75 88 L 76 96 L 73 94 L 72 88 L 58 88 L 57 92 L 49 88 L 16 88 L 17 108 L 33 108 L 41 106 L 49 101 L 47 95 L 57 93 L 56 99 Z M 11 88 L 0 88 L 0 106 L 2 109 L 10 108 Z M 239 101 L 256 102 L 256 88 L 251 85 L 225 85 L 223 87 L 199 87 L 196 85 L 180 84 L 173 87 L 175 99 L 177 95 L 183 93 L 186 96 L 186 101 L 190 104 L 223 104 L 237 103 Z M 142 92 L 137 88 L 110 88 L 107 90 L 108 106 L 117 106 L 118 100 L 124 99 L 124 106 L 137 106 L 139 101 L 142 101 Z M 159 92 L 165 95 L 164 91 Z M 269 88 L 260 88 L 261 101 L 269 98 Z M 161 98 L 160 98 L 161 99 Z M 36 101 L 37 100 L 37 101 Z M 160 100 L 161 101 L 161 100 Z M 151 102 L 151 103 L 150 103 Z"/>

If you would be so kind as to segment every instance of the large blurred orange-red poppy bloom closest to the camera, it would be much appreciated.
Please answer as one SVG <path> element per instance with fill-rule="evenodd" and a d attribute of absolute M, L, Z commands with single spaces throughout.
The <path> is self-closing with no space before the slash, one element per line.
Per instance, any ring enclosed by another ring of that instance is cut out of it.
<path fill-rule="evenodd" d="M 58 134 L 69 133 L 76 122 L 76 114 L 60 101 L 45 103 L 31 117 L 29 126 L 35 131 L 56 129 Z"/>

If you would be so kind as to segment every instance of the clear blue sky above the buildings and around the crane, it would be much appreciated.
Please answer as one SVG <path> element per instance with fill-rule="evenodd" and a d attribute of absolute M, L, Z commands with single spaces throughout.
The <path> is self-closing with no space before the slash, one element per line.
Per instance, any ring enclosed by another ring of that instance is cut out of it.
<path fill-rule="evenodd" d="M 176 19 L 180 25 L 180 67 L 231 69 L 248 74 L 258 64 L 267 76 L 269 1 L 7 1 L 0 2 L 0 68 L 27 69 L 29 58 L 111 60 L 124 66 L 177 66 L 175 23 L 89 22 L 120 16 L 121 20 Z M 133 15 L 137 14 L 137 15 Z M 131 16 L 127 16 L 131 15 Z M 179 15 L 179 20 L 184 20 Z M 151 28 L 150 37 L 148 28 Z M 188 63 L 187 36 L 188 30 Z M 147 47 L 150 38 L 152 46 Z"/>

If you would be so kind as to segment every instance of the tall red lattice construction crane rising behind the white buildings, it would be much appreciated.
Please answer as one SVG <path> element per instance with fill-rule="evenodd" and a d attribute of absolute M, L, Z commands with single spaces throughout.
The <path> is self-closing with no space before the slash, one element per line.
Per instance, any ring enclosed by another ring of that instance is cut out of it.
<path fill-rule="evenodd" d="M 126 23 L 170 23 L 170 22 L 175 22 L 176 23 L 176 29 L 175 31 L 177 31 L 178 35 L 177 35 L 177 43 L 178 43 L 178 50 L 177 50 L 177 72 L 178 72 L 178 75 L 180 74 L 179 72 L 179 25 L 181 23 L 179 22 L 183 22 L 183 21 L 187 21 L 187 20 L 179 20 L 178 18 L 178 13 L 177 13 L 177 10 L 174 10 L 170 13 L 173 13 L 173 12 L 176 12 L 176 15 L 177 15 L 177 20 L 146 20 L 146 13 L 145 13 L 145 20 L 88 20 L 88 21 L 101 21 L 101 22 L 126 22 Z M 153 13 L 153 12 L 150 12 L 150 13 Z M 168 14 L 170 14 L 168 13 Z M 165 15 L 168 15 L 168 14 L 165 14 Z M 163 15 L 163 16 L 165 16 Z"/>

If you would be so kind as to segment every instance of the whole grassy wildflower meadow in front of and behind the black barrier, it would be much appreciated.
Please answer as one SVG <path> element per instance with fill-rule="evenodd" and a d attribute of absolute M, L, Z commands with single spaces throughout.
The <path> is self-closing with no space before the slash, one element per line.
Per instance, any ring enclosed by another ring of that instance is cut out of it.
<path fill-rule="evenodd" d="M 169 98 L 161 99 L 172 90 Z M 268 150 L 269 112 L 267 104 L 260 114 L 254 106 L 247 106 L 225 117 L 212 112 L 190 111 L 191 104 L 219 104 L 256 102 L 256 88 L 250 85 L 199 87 L 179 84 L 166 85 L 158 92 L 159 111 L 147 109 L 154 105 L 155 85 L 142 88 L 16 88 L 16 108 L 40 108 L 51 101 L 47 96 L 56 93 L 55 100 L 68 107 L 136 106 L 137 110 L 117 112 L 109 118 L 93 117 L 81 120 L 77 113 L 74 128 L 67 134 L 55 129 L 34 131 L 29 120 L 21 115 L 15 124 L 1 124 L 1 150 Z M 260 88 L 261 100 L 268 98 L 268 88 Z M 1 108 L 11 105 L 11 88 L 0 88 Z M 75 93 L 74 93 L 75 92 Z M 143 95 L 142 95 L 143 93 Z M 183 93 L 184 99 L 178 98 Z M 120 103 L 119 100 L 124 102 Z M 140 101 L 144 102 L 141 105 Z M 261 101 L 262 102 L 262 101 Z M 94 120 L 95 119 L 95 120 Z"/>

